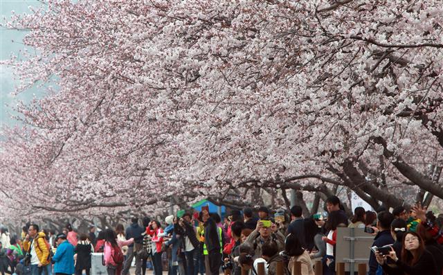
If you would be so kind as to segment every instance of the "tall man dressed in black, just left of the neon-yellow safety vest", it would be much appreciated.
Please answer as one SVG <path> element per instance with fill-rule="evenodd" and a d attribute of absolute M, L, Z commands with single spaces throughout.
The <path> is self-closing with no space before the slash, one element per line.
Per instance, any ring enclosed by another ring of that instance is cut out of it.
<path fill-rule="evenodd" d="M 208 275 L 218 275 L 221 265 L 221 245 L 219 229 L 215 220 L 210 217 L 209 212 L 204 209 L 201 211 L 201 220 L 204 222 L 205 245 L 208 251 Z"/>

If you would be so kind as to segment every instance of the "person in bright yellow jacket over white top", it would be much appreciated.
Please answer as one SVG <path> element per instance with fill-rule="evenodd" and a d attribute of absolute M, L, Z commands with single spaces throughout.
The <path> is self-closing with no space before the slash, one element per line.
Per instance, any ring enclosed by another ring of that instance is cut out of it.
<path fill-rule="evenodd" d="M 45 234 L 39 232 L 37 224 L 31 224 L 23 242 L 23 249 L 30 255 L 30 275 L 42 275 L 44 267 L 48 265 L 49 250 L 44 241 Z M 46 270 L 46 269 L 45 269 Z"/>

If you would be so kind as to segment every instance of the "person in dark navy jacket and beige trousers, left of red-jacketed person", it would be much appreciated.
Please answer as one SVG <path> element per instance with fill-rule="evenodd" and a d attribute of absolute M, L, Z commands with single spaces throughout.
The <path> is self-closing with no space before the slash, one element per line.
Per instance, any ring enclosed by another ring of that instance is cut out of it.
<path fill-rule="evenodd" d="M 129 274 L 129 268 L 131 267 L 132 259 L 136 258 L 136 275 L 141 275 L 141 257 L 138 256 L 137 251 L 143 248 L 143 236 L 141 235 L 145 229 L 138 225 L 138 218 L 131 218 L 132 224 L 126 229 L 126 240 L 134 238 L 134 243 L 128 245 L 125 264 L 123 265 L 122 274 Z"/>

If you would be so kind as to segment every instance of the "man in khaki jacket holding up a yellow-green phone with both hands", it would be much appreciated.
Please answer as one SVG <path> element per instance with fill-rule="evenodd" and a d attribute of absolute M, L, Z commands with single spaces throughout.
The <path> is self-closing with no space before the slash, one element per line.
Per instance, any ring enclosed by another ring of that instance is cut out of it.
<path fill-rule="evenodd" d="M 284 235 L 278 231 L 275 224 L 271 224 L 271 227 L 265 227 L 262 220 L 257 222 L 257 228 L 246 239 L 246 242 L 252 245 L 255 251 L 255 256 L 262 255 L 262 245 L 273 240 L 277 243 L 279 251 L 284 249 Z"/>

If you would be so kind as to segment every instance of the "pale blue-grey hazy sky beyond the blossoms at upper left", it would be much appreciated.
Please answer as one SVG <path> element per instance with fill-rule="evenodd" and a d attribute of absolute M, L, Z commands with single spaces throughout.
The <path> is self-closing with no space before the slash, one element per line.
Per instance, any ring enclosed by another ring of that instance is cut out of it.
<path fill-rule="evenodd" d="M 40 3 L 37 0 L 0 0 L 1 23 L 4 23 L 3 17 L 6 17 L 6 19 L 10 17 L 12 10 L 16 14 L 22 14 L 29 11 L 29 6 L 39 5 Z M 0 60 L 8 60 L 11 53 L 19 55 L 19 50 L 25 47 L 21 43 L 25 35 L 26 32 L 7 30 L 0 26 Z M 2 126 L 19 124 L 18 121 L 11 118 L 11 115 L 14 114 L 13 107 L 17 105 L 18 100 L 29 102 L 35 95 L 37 97 L 42 95 L 37 87 L 33 87 L 17 96 L 13 96 L 11 92 L 14 90 L 16 83 L 12 75 L 12 69 L 0 64 L 0 125 Z"/>

